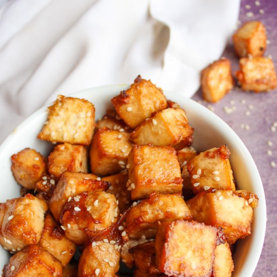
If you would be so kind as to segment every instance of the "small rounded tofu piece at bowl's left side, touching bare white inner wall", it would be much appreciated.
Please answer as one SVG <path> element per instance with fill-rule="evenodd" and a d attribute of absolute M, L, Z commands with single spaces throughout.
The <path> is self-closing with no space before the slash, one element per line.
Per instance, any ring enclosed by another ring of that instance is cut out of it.
<path fill-rule="evenodd" d="M 25 148 L 12 156 L 15 180 L 27 189 L 35 189 L 36 182 L 46 172 L 46 160 L 37 151 Z"/>

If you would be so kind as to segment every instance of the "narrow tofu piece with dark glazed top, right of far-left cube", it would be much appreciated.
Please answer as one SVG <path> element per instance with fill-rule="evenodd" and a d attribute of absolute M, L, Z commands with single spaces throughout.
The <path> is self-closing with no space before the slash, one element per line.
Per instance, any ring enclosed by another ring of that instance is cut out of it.
<path fill-rule="evenodd" d="M 44 219 L 44 228 L 39 241 L 41 247 L 53 255 L 64 267 L 76 251 L 74 242 L 68 240 L 50 214 Z"/>

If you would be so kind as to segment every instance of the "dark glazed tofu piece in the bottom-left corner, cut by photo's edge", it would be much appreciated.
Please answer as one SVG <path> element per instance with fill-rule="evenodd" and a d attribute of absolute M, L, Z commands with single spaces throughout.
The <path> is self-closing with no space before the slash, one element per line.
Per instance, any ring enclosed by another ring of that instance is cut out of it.
<path fill-rule="evenodd" d="M 39 245 L 25 247 L 4 266 L 4 277 L 61 277 L 61 263 Z"/>

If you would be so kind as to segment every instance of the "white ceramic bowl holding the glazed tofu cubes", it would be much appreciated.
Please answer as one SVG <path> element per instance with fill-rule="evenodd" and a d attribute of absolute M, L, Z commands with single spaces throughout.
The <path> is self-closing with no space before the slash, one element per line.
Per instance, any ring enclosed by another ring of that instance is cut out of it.
<path fill-rule="evenodd" d="M 127 85 L 105 86 L 88 89 L 72 94 L 73 97 L 85 98 L 96 108 L 96 119 L 111 108 L 110 99 Z M 165 92 L 168 99 L 177 102 L 187 113 L 190 125 L 194 128 L 193 146 L 197 150 L 207 150 L 227 144 L 231 151 L 231 165 L 239 189 L 246 189 L 258 195 L 259 205 L 254 209 L 252 234 L 238 242 L 234 255 L 234 276 L 252 276 L 262 250 L 265 226 L 266 206 L 262 182 L 257 167 L 237 134 L 210 110 L 175 93 Z M 51 144 L 36 138 L 47 118 L 47 107 L 42 107 L 21 123 L 0 147 L 0 202 L 18 197 L 20 186 L 11 172 L 10 157 L 20 150 L 30 147 L 43 155 L 48 155 Z M 0 247 L 0 269 L 8 262 L 9 254 Z"/>

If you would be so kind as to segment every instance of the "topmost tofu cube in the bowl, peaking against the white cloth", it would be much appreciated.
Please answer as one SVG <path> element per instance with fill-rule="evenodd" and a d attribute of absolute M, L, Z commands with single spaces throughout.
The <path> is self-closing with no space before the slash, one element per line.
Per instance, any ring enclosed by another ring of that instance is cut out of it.
<path fill-rule="evenodd" d="M 162 89 L 141 76 L 134 80 L 128 90 L 122 91 L 111 101 L 120 118 L 132 129 L 151 117 L 153 112 L 167 108 Z"/>

